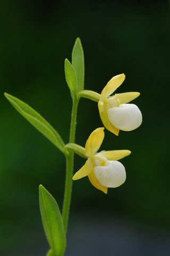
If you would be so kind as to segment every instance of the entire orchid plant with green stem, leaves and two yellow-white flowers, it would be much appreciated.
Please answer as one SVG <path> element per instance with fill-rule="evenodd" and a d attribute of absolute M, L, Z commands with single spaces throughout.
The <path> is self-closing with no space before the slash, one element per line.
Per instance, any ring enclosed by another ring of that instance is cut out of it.
<path fill-rule="evenodd" d="M 58 132 L 37 111 L 23 101 L 5 93 L 5 97 L 45 137 L 52 142 L 66 158 L 66 182 L 62 213 L 54 197 L 39 186 L 40 213 L 50 249 L 46 256 L 62 256 L 66 248 L 66 231 L 71 203 L 72 181 L 88 176 L 91 184 L 107 194 L 108 188 L 121 186 L 126 179 L 125 167 L 118 160 L 130 155 L 130 150 L 110 150 L 97 153 L 104 140 L 104 127 L 93 131 L 87 139 L 85 148 L 75 144 L 75 126 L 77 109 L 81 97 L 98 102 L 101 121 L 106 129 L 115 135 L 120 130 L 132 131 L 142 123 L 142 114 L 131 100 L 139 92 L 127 92 L 112 95 L 123 83 L 125 75 L 114 76 L 104 87 L 101 94 L 84 90 L 84 55 L 80 38 L 75 41 L 72 51 L 72 63 L 65 60 L 65 77 L 72 97 L 72 114 L 69 143 L 64 143 Z M 86 158 L 86 162 L 73 175 L 74 154 Z"/>

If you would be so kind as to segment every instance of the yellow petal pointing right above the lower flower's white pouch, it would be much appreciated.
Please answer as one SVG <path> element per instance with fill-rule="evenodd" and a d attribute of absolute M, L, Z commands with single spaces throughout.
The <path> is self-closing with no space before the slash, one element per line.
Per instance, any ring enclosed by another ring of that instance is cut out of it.
<path fill-rule="evenodd" d="M 104 156 L 109 161 L 117 161 L 125 156 L 129 156 L 131 154 L 130 150 L 110 150 L 110 151 L 101 151 L 97 153 L 96 156 Z"/>

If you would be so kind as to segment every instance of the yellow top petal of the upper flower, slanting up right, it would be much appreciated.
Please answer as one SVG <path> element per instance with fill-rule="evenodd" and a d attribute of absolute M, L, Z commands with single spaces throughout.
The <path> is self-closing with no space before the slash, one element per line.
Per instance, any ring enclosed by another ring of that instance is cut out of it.
<path fill-rule="evenodd" d="M 111 95 L 123 83 L 124 79 L 124 74 L 112 77 L 101 92 L 101 99 L 107 98 L 109 95 Z"/>

